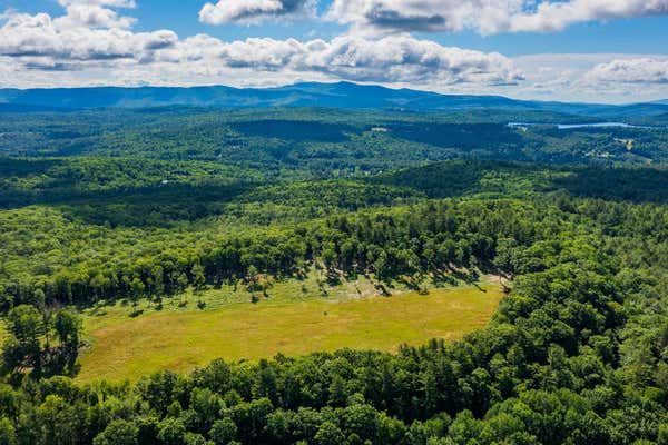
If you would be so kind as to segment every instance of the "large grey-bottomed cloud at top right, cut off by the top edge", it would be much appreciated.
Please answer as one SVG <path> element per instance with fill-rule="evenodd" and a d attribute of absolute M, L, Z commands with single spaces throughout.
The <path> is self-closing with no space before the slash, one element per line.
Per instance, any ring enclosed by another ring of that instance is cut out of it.
<path fill-rule="evenodd" d="M 586 21 L 668 13 L 668 0 L 334 0 L 326 18 L 385 31 L 550 32 Z"/>

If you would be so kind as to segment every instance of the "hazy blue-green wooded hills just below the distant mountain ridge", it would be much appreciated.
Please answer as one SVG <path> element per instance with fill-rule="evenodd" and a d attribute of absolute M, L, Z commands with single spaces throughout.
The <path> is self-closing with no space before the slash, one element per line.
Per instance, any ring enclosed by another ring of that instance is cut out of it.
<path fill-rule="evenodd" d="M 648 127 L 559 128 L 556 123 L 591 118 L 543 111 L 183 107 L 2 113 L 0 155 L 198 160 L 292 178 L 375 174 L 455 158 L 597 165 L 666 161 L 668 130 L 660 117 L 656 122 L 647 119 Z"/>

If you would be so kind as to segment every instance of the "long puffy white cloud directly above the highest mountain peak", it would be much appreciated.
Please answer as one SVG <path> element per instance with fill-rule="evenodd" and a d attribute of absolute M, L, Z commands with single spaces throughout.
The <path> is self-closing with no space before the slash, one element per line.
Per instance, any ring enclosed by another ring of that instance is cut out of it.
<path fill-rule="evenodd" d="M 321 73 L 330 78 L 383 83 L 511 85 L 521 72 L 499 53 L 443 47 L 411 36 L 366 39 L 341 36 L 331 41 L 247 39 L 223 42 L 196 36 L 160 51 L 158 61 L 204 62 L 264 72 Z"/>

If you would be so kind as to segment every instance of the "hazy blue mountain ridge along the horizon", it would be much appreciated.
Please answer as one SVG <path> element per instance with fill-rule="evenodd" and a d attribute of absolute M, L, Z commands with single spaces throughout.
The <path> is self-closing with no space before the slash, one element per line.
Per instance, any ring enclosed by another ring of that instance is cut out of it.
<path fill-rule="evenodd" d="M 462 111 L 472 109 L 540 110 L 599 118 L 656 116 L 668 112 L 668 101 L 625 106 L 515 100 L 502 96 L 440 95 L 381 86 L 295 83 L 276 88 L 214 87 L 92 87 L 0 89 L 0 112 L 37 112 L 94 108 L 166 106 L 220 108 L 331 107 L 343 109 L 409 109 Z"/>

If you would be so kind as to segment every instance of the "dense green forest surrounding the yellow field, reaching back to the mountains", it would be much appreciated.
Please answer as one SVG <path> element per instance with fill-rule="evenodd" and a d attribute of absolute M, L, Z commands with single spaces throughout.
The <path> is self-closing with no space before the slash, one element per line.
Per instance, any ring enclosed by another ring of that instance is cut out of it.
<path fill-rule="evenodd" d="M 7 115 L 0 444 L 668 444 L 668 132 L 508 121 Z M 379 294 L 494 274 L 507 296 L 394 354 L 71 379 L 84 308 L 314 268 Z"/>

